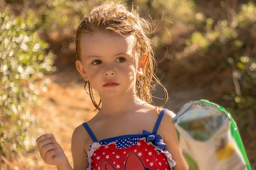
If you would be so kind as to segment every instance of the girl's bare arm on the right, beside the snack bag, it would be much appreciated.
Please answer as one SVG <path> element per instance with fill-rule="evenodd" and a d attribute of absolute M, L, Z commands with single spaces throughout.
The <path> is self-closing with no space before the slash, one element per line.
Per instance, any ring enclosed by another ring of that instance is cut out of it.
<path fill-rule="evenodd" d="M 174 170 L 188 170 L 189 168 L 180 151 L 180 145 L 175 126 L 172 123 L 172 119 L 174 117 L 175 113 L 172 111 L 166 111 L 160 123 L 159 132 L 163 133 L 164 143 L 167 144 L 165 149 L 172 154 L 172 159 L 176 162 Z"/>

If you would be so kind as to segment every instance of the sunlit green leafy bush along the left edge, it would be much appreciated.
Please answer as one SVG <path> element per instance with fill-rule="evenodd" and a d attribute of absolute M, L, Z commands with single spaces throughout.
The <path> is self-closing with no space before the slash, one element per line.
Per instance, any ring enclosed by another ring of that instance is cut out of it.
<path fill-rule="evenodd" d="M 0 154 L 29 150 L 35 138 L 28 136 L 36 120 L 29 106 L 37 101 L 37 83 L 52 68 L 53 54 L 46 53 L 48 44 L 42 41 L 29 20 L 14 17 L 7 11 L 0 13 Z"/>

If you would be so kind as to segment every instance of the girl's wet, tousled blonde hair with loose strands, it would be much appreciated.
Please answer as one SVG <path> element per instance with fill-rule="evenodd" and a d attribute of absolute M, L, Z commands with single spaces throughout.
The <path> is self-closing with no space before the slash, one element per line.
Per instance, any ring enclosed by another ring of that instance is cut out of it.
<path fill-rule="evenodd" d="M 165 100 L 163 104 L 165 105 L 168 99 L 168 94 L 166 88 L 163 87 L 153 72 L 154 66 L 156 65 L 154 59 L 154 47 L 151 44 L 151 40 L 148 38 L 150 34 L 156 31 L 156 29 L 153 29 L 147 20 L 139 16 L 133 5 L 129 11 L 126 5 L 106 2 L 103 5 L 94 8 L 89 15 L 85 15 L 78 26 L 75 35 L 77 60 L 80 59 L 81 35 L 98 31 L 113 31 L 120 35 L 132 34 L 136 37 L 136 52 L 139 54 L 138 56 L 141 56 L 142 54 L 147 55 L 143 68 L 143 75 L 141 77 L 136 77 L 136 94 L 140 99 L 150 104 L 152 102 L 151 92 L 154 90 L 155 85 L 159 84 L 165 92 Z M 86 86 L 89 91 L 86 90 Z M 84 89 L 90 95 L 96 110 L 100 110 L 99 105 L 101 104 L 101 100 L 99 100 L 99 104 L 96 103 L 89 81 L 85 82 Z"/>

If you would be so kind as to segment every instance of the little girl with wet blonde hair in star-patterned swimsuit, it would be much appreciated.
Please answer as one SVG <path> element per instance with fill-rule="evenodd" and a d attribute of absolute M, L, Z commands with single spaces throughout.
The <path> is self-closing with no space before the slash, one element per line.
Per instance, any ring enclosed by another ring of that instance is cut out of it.
<path fill-rule="evenodd" d="M 99 113 L 73 132 L 74 170 L 188 169 L 172 124 L 175 114 L 150 104 L 152 82 L 161 85 L 153 74 L 150 33 L 150 24 L 120 3 L 94 8 L 77 28 L 76 68 Z M 47 164 L 72 170 L 52 134 L 37 144 Z"/>

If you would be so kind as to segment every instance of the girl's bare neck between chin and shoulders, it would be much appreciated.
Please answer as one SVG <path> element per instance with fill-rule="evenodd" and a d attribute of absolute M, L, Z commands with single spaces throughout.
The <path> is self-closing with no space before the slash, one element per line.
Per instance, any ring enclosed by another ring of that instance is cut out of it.
<path fill-rule="evenodd" d="M 146 104 L 143 100 L 134 94 L 123 94 L 114 98 L 101 98 L 102 107 L 98 114 L 104 114 L 105 116 L 120 115 L 124 113 L 130 113 L 136 111 L 138 108 Z"/>

